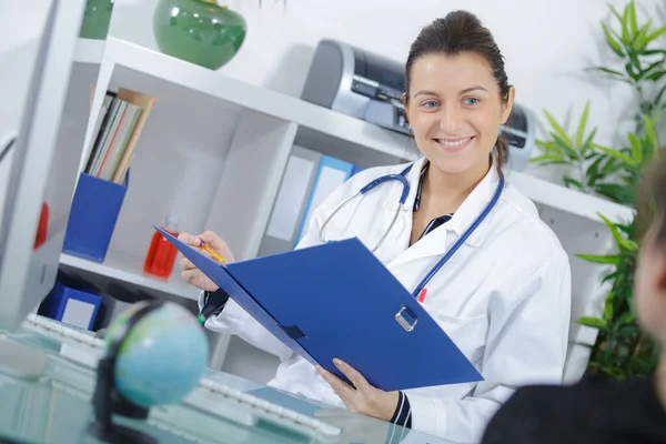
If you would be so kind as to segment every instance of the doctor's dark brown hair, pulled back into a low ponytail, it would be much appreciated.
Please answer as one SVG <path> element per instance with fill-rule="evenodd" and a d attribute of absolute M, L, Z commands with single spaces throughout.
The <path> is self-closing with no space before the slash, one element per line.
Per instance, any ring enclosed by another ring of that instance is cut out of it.
<path fill-rule="evenodd" d="M 491 68 L 500 87 L 500 95 L 508 100 L 511 85 L 504 69 L 504 57 L 491 31 L 476 16 L 467 11 L 453 11 L 442 19 L 436 19 L 421 30 L 412 43 L 405 67 L 405 97 L 408 100 L 411 70 L 414 62 L 427 54 L 443 53 L 456 56 L 461 52 L 475 52 L 483 57 Z M 508 160 L 508 142 L 501 134 L 495 144 L 497 167 L 502 169 Z"/>

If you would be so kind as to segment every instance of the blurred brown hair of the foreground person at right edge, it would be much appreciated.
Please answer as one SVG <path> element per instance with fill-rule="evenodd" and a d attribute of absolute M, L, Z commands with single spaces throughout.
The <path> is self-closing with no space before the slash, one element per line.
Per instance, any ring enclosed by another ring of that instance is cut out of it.
<path fill-rule="evenodd" d="M 654 240 L 666 248 L 666 150 L 659 150 L 640 180 L 638 231 L 643 238 L 654 229 Z"/>

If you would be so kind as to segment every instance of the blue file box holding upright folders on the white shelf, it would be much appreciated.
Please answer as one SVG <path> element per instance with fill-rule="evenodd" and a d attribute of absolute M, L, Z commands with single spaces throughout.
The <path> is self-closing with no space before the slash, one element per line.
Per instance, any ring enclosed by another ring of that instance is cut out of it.
<path fill-rule="evenodd" d="M 104 262 L 127 191 L 127 181 L 121 185 L 81 173 L 62 251 Z"/>

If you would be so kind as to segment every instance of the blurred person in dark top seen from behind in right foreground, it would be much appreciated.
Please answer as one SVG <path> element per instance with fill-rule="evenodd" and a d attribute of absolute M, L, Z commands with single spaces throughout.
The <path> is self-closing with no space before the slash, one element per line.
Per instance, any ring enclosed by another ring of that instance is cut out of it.
<path fill-rule="evenodd" d="M 484 444 L 666 443 L 666 151 L 642 191 L 638 220 L 645 234 L 634 301 L 638 324 L 662 349 L 656 374 L 627 382 L 522 387 L 491 421 Z"/>

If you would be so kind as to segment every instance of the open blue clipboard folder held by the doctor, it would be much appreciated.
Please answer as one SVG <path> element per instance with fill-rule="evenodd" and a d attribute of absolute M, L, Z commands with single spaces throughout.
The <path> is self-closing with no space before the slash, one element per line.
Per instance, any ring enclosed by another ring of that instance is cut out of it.
<path fill-rule="evenodd" d="M 483 381 L 355 238 L 222 265 L 155 229 L 280 341 L 345 381 L 334 357 L 387 392 Z"/>

